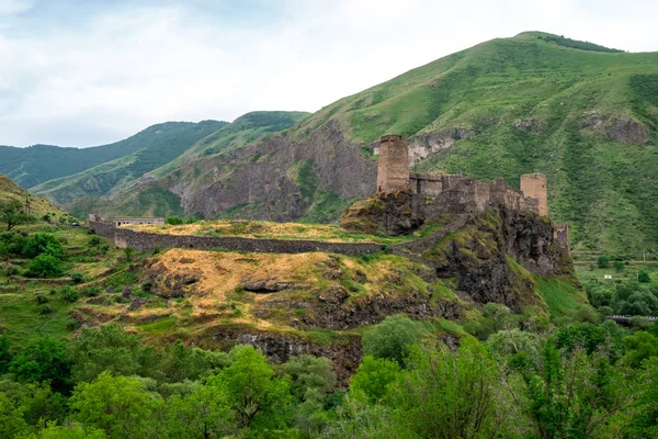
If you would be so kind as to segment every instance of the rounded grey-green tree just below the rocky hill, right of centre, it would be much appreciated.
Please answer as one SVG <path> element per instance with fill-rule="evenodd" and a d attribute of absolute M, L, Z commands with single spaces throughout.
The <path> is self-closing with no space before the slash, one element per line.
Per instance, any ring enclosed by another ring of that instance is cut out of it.
<path fill-rule="evenodd" d="M 363 352 L 374 358 L 395 360 L 402 365 L 408 348 L 419 342 L 422 335 L 422 324 L 401 315 L 389 316 L 363 334 Z"/>

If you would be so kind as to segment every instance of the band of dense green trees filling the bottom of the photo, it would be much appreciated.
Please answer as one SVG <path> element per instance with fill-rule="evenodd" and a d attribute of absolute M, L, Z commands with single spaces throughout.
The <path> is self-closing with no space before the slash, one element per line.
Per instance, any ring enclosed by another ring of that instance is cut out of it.
<path fill-rule="evenodd" d="M 364 357 L 347 392 L 329 360 L 273 367 L 251 346 L 154 348 L 112 325 L 14 349 L 0 337 L 0 437 L 646 438 L 658 431 L 648 329 L 417 340 L 401 364 Z"/>

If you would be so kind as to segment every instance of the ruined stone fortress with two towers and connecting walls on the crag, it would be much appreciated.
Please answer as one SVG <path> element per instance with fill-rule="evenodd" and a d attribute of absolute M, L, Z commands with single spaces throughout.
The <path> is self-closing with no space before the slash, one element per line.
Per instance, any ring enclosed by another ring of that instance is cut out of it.
<path fill-rule="evenodd" d="M 479 181 L 458 175 L 419 173 L 409 169 L 409 145 L 400 135 L 386 135 L 379 140 L 377 192 L 409 191 L 412 216 L 430 218 L 442 213 L 484 212 L 491 205 L 504 205 L 520 213 L 548 215 L 546 176 L 521 176 L 521 191 L 508 187 L 502 179 Z M 556 239 L 568 246 L 568 227 L 556 225 Z"/>

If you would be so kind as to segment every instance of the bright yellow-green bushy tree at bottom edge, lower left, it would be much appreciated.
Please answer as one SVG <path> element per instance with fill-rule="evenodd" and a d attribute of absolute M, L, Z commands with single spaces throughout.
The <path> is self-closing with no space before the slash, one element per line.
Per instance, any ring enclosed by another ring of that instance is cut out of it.
<path fill-rule="evenodd" d="M 138 379 L 103 372 L 91 383 L 78 384 L 69 404 L 72 419 L 100 428 L 110 438 L 158 436 L 156 415 L 162 399 L 147 392 Z"/>

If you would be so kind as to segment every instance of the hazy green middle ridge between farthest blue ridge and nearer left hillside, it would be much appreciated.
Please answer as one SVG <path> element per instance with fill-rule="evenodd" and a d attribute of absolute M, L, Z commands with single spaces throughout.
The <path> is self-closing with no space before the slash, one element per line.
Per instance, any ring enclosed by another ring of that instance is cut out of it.
<path fill-rule="evenodd" d="M 226 125 L 225 122 L 216 121 L 185 125 L 184 130 L 162 136 L 159 142 L 145 144 L 143 149 L 133 154 L 72 176 L 46 181 L 33 190 L 59 203 L 69 203 L 84 196 L 106 195 L 117 187 L 170 162 L 197 140 Z"/>

